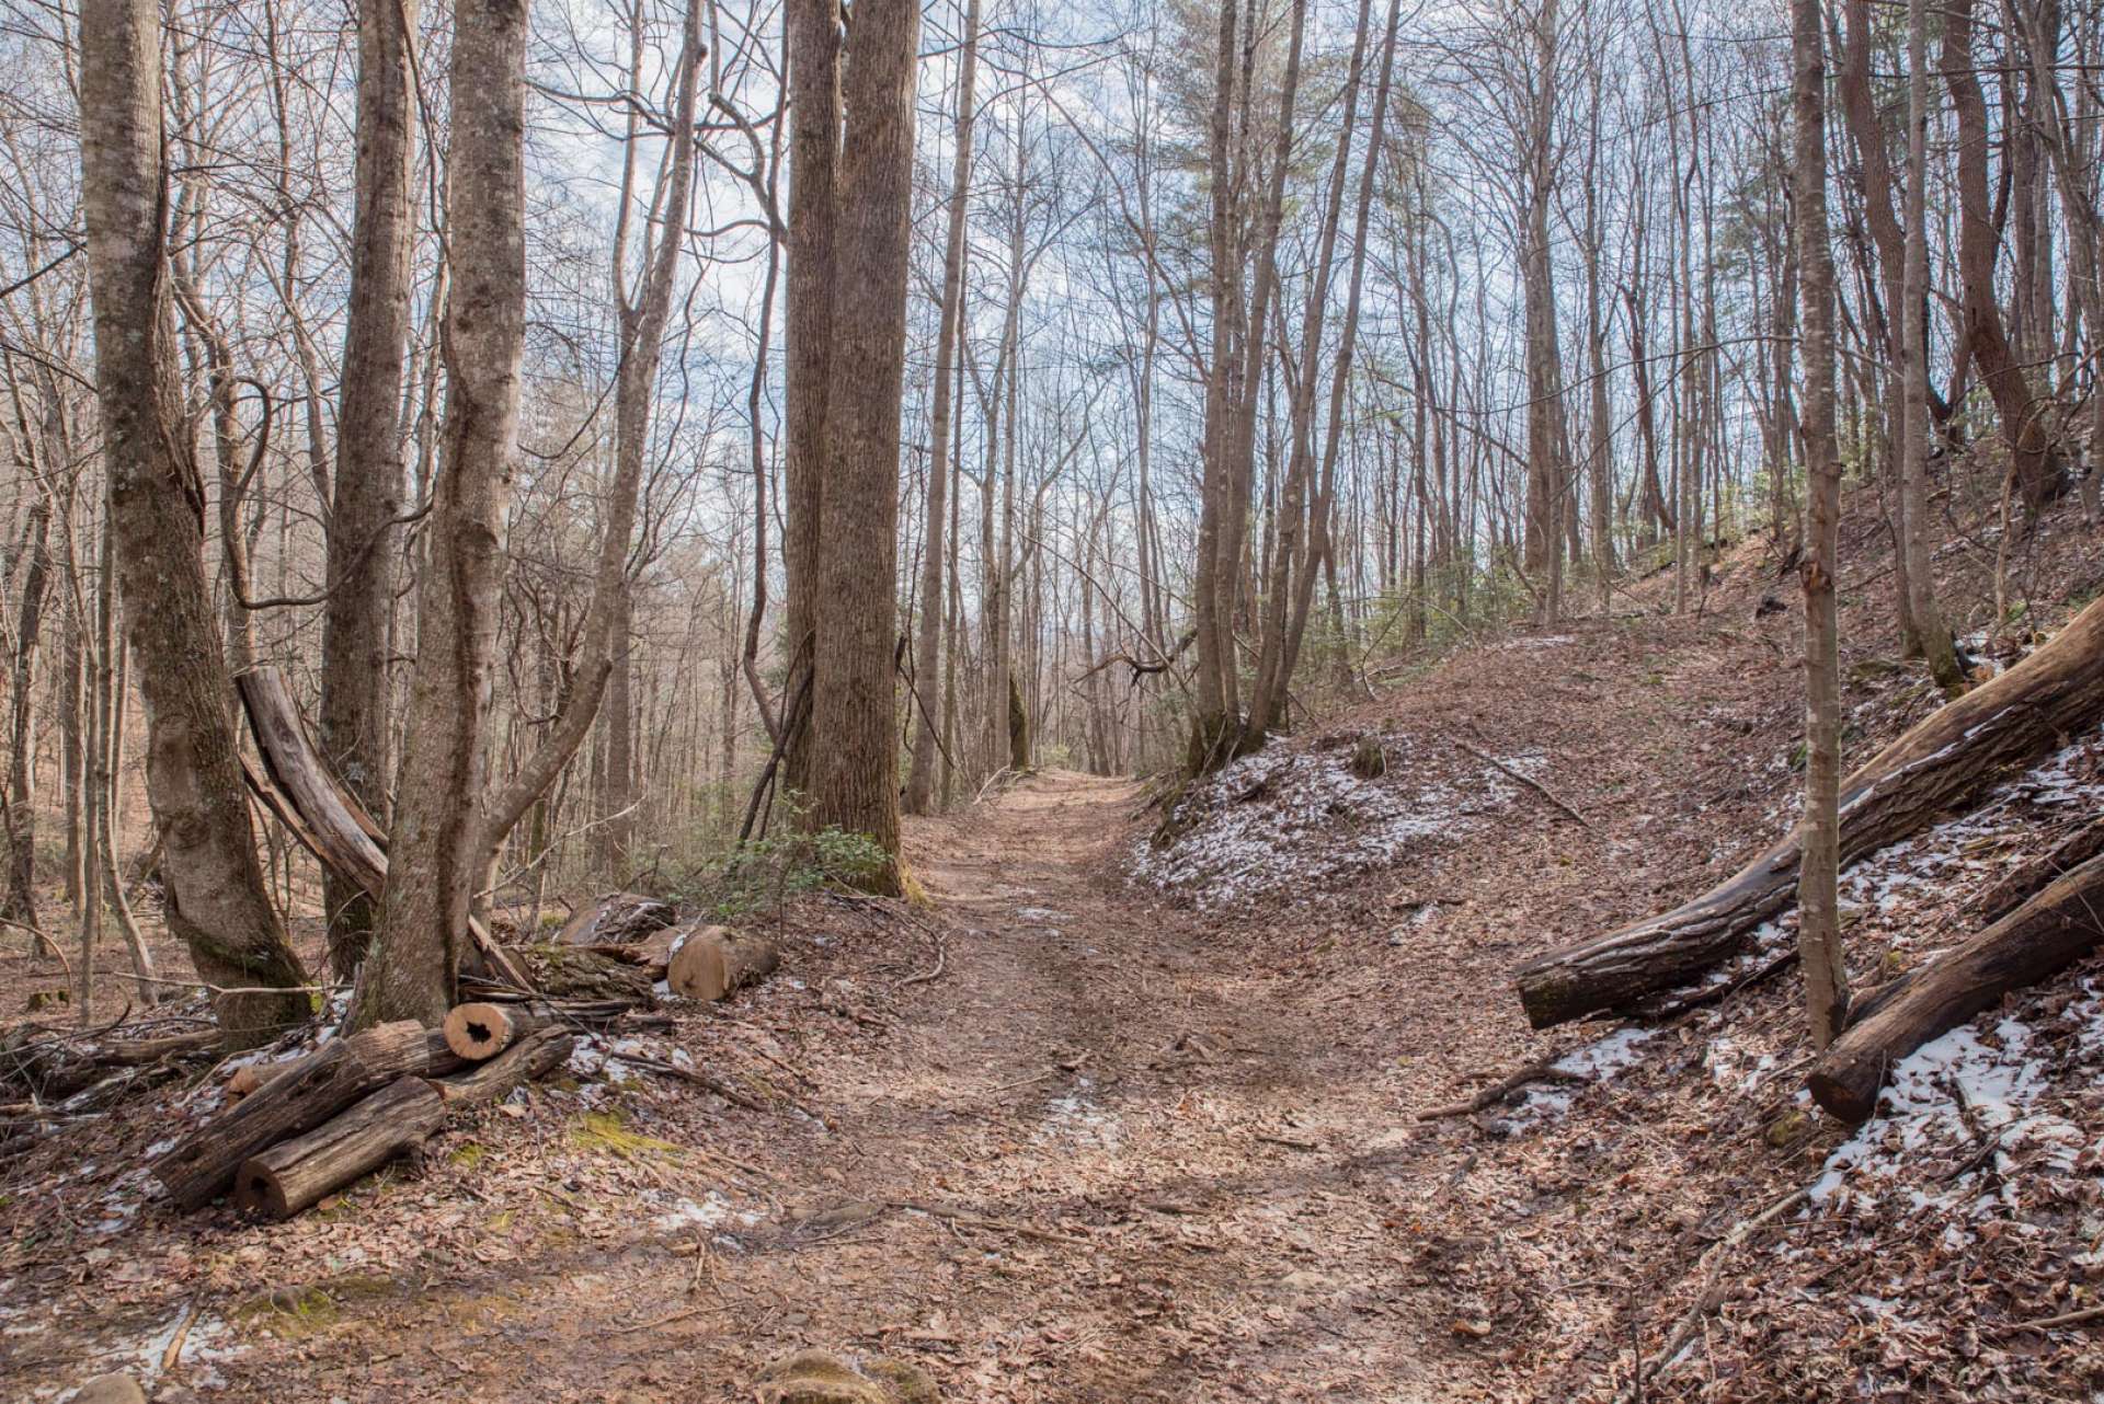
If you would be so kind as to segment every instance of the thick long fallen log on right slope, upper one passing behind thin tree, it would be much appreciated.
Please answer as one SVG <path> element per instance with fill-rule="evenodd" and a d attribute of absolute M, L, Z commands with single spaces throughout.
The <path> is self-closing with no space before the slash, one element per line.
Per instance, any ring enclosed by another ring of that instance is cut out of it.
<path fill-rule="evenodd" d="M 1936 710 L 1841 786 L 1841 862 L 1898 843 L 2104 715 L 2104 599 L 2001 677 Z M 1797 900 L 1797 834 L 1675 910 L 1515 971 L 1534 1028 L 1694 984 Z"/>

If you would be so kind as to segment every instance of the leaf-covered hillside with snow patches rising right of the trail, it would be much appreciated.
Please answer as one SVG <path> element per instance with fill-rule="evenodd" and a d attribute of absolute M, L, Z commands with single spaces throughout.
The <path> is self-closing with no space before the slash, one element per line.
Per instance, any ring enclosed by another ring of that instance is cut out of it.
<path fill-rule="evenodd" d="M 1889 574 L 1852 542 L 1847 755 L 1938 702 L 1891 654 Z M 2077 515 L 2026 542 L 2041 628 L 2098 589 Z M 1961 618 L 1988 553 L 1940 557 Z M 1700 616 L 1639 586 L 1610 624 L 1485 641 L 1193 788 L 1128 881 L 1277 969 L 1393 1108 L 1403 1272 L 1498 1398 L 2077 1398 L 2104 1364 L 2104 961 L 1896 1070 L 1852 1133 L 1803 1093 L 1795 969 L 1652 1026 L 1536 1034 L 1515 965 L 1694 895 L 1797 813 L 1801 612 L 1757 546 Z M 1631 607 L 1633 605 L 1633 607 Z M 2003 658 L 2024 645 L 2009 631 Z M 1378 738 L 1384 776 L 1351 771 Z M 1523 778 L 1523 780 L 1521 780 Z M 1525 784 L 1532 782 L 1532 784 Z M 1974 900 L 2104 807 L 2104 734 L 1843 876 L 1849 965 L 1881 984 L 1971 935 Z M 1795 912 L 1769 933 L 1786 950 Z M 1765 975 L 1761 971 L 1767 971 Z M 1506 1074 L 1481 1110 L 1418 1122 Z"/>

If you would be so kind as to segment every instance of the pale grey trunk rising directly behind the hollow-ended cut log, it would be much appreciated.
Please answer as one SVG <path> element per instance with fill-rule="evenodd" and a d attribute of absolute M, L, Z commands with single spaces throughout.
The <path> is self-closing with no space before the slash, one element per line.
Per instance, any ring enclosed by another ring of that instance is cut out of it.
<path fill-rule="evenodd" d="M 524 0 L 457 0 L 446 422 L 381 931 L 351 1003 L 358 1028 L 446 1017 L 471 900 L 488 866 L 478 809 L 488 780 L 505 498 L 526 351 L 524 61 Z"/>

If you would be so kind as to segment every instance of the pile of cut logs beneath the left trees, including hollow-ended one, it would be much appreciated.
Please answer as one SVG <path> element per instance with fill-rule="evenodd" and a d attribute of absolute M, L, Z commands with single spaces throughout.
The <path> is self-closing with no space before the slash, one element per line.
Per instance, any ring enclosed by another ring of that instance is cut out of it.
<path fill-rule="evenodd" d="M 598 963 L 587 963 L 593 973 L 574 988 L 602 998 L 501 986 L 457 1005 L 436 1030 L 414 1019 L 381 1024 L 299 1059 L 240 1068 L 227 1080 L 227 1108 L 149 1169 L 181 1209 L 231 1194 L 248 1215 L 288 1219 L 414 1152 L 457 1112 L 549 1076 L 568 1061 L 579 1030 L 635 1026 L 659 979 L 688 998 L 720 1000 L 778 965 L 772 942 L 722 927 L 652 929 L 633 944 L 568 946 L 564 956 L 570 971 L 581 969 L 579 956 Z"/>

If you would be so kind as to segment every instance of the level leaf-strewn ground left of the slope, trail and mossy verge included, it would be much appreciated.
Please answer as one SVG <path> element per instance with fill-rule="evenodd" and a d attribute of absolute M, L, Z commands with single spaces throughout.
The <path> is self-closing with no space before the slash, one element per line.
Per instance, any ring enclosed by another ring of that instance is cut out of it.
<path fill-rule="evenodd" d="M 147 1211 L 84 1251 L 105 1211 L 72 1196 L 82 1234 L 0 1280 L 0 1381 L 745 1400 L 812 1343 L 911 1356 L 957 1400 L 1469 1398 L 1481 1368 L 1401 1282 L 1376 1053 L 1260 931 L 1117 889 L 1138 797 L 1048 771 L 913 824 L 938 918 L 890 950 L 806 935 L 802 977 L 694 1015 L 776 1051 L 800 1087 L 772 1114 L 537 1093 L 421 1179 L 286 1225 Z M 810 1005 L 852 1034 L 789 1021 Z"/>

